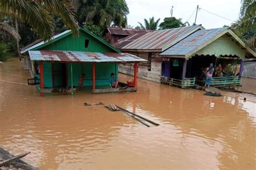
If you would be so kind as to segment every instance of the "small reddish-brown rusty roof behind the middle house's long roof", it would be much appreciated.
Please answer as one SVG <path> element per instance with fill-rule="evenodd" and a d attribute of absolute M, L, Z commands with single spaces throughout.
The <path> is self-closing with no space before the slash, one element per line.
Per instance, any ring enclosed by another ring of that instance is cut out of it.
<path fill-rule="evenodd" d="M 107 31 L 109 31 L 110 34 L 124 35 L 124 36 L 129 36 L 131 34 L 139 33 L 139 32 L 152 32 L 152 30 L 126 29 L 126 28 L 117 27 L 117 26 L 109 26 L 107 27 Z"/>

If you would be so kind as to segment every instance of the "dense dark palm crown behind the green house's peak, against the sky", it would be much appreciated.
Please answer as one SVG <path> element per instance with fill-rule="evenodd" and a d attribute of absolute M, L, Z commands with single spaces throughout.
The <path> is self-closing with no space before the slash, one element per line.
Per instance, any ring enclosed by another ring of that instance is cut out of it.
<path fill-rule="evenodd" d="M 79 24 L 92 22 L 106 27 L 127 25 L 128 6 L 125 0 L 79 0 L 77 11 Z"/>

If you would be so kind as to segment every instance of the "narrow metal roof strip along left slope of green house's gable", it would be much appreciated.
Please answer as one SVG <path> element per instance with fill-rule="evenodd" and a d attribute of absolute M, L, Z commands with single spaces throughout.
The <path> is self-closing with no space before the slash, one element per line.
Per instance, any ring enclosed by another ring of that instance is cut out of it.
<path fill-rule="evenodd" d="M 59 34 L 57 34 L 55 36 L 52 36 L 51 40 L 54 40 L 54 39 L 59 38 L 61 36 L 64 36 L 66 33 L 71 33 L 71 30 L 66 30 L 66 31 L 64 31 L 62 33 L 59 33 Z M 33 48 L 39 47 L 39 46 L 41 46 L 43 44 L 46 44 L 48 42 L 49 41 L 44 41 L 42 39 L 36 40 L 35 42 L 32 42 L 31 44 L 29 44 L 29 45 L 25 46 L 24 48 L 22 48 L 21 49 L 21 54 L 25 53 L 27 51 L 30 51 Z"/>

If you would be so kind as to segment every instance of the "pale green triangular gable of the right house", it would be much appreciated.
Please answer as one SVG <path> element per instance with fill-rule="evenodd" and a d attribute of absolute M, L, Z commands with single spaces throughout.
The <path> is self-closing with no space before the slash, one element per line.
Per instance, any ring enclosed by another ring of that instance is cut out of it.
<path fill-rule="evenodd" d="M 235 44 L 230 37 L 224 35 L 193 55 L 215 55 L 217 58 L 220 55 L 237 55 L 244 60 L 245 50 Z"/>

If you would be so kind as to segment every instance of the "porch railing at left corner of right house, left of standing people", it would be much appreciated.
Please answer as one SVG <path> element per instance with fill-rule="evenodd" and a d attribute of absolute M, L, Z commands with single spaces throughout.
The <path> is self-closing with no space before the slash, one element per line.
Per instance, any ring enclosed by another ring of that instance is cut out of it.
<path fill-rule="evenodd" d="M 195 85 L 196 78 L 184 78 L 183 80 L 178 80 L 178 79 L 173 79 L 169 77 L 161 77 L 161 83 L 169 84 L 169 86 L 189 88 Z"/>

